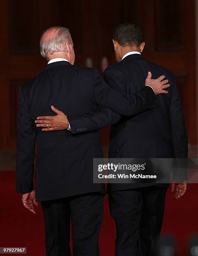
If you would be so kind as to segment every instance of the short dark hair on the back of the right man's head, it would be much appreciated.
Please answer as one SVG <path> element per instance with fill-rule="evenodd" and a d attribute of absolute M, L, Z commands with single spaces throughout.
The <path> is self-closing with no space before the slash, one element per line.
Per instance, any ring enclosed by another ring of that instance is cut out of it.
<path fill-rule="evenodd" d="M 143 40 L 141 28 L 132 23 L 123 23 L 114 30 L 113 39 L 122 47 L 139 46 Z"/>

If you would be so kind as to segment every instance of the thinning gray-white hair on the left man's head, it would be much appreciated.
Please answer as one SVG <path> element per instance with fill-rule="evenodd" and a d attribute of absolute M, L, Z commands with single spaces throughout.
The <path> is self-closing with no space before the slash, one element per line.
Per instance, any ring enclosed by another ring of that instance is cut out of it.
<path fill-rule="evenodd" d="M 73 44 L 68 28 L 51 27 L 48 28 L 44 33 L 52 29 L 55 29 L 55 33 L 51 38 L 49 38 L 47 41 L 43 41 L 42 35 L 40 39 L 41 56 L 43 58 L 46 58 L 48 54 L 53 54 L 53 52 L 64 51 L 66 41 L 69 41 L 70 44 Z"/>

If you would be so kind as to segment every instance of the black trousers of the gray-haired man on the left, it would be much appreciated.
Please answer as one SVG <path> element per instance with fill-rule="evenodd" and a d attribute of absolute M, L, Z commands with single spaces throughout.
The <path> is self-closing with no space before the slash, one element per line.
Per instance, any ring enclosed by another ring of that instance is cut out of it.
<path fill-rule="evenodd" d="M 42 201 L 45 221 L 46 256 L 99 256 L 99 231 L 103 218 L 104 195 L 91 193 Z"/>

